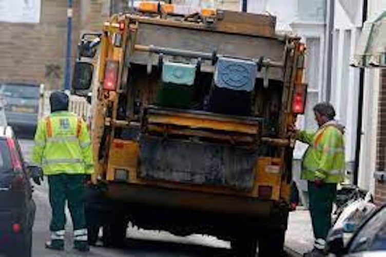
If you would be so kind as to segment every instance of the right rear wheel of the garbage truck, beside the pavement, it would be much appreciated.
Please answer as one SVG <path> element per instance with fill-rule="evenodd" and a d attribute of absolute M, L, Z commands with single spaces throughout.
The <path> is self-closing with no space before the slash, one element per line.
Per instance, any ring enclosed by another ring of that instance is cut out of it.
<path fill-rule="evenodd" d="M 285 256 L 283 249 L 284 236 L 285 230 L 261 235 L 259 238 L 259 257 Z"/>

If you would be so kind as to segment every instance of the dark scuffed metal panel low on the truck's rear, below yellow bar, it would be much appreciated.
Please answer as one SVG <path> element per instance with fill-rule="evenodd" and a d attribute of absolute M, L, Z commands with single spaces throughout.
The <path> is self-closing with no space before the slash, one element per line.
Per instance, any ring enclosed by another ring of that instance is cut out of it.
<path fill-rule="evenodd" d="M 252 190 L 256 150 L 143 136 L 140 178 Z"/>

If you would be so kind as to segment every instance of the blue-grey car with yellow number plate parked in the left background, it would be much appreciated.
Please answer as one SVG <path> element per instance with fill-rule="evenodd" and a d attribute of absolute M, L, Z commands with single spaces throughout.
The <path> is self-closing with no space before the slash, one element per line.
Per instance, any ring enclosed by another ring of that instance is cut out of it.
<path fill-rule="evenodd" d="M 8 124 L 14 128 L 34 131 L 39 111 L 40 86 L 35 84 L 0 84 Z"/>

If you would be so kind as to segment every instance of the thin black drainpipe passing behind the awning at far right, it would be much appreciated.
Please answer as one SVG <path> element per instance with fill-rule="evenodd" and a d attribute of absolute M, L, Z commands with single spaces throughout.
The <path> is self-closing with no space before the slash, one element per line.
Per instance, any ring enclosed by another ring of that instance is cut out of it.
<path fill-rule="evenodd" d="M 368 9 L 368 0 L 363 0 L 362 27 L 363 27 L 363 23 L 367 20 L 367 9 Z M 358 95 L 358 123 L 357 123 L 357 136 L 356 136 L 356 145 L 355 145 L 355 162 L 354 162 L 354 171 L 353 171 L 354 185 L 358 185 L 358 175 L 359 175 L 360 145 L 362 141 L 363 86 L 364 86 L 364 68 L 360 68 L 359 95 Z"/>

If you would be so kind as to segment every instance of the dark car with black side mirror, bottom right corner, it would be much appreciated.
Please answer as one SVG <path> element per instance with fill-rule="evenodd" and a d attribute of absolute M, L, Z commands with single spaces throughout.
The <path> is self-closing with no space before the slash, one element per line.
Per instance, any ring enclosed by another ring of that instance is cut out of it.
<path fill-rule="evenodd" d="M 330 254 L 350 257 L 386 256 L 386 205 L 364 219 L 348 244 L 344 245 L 343 231 L 328 242 Z"/>

